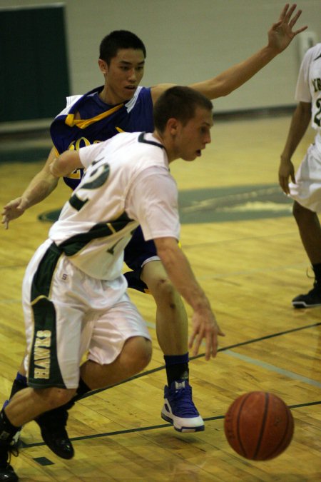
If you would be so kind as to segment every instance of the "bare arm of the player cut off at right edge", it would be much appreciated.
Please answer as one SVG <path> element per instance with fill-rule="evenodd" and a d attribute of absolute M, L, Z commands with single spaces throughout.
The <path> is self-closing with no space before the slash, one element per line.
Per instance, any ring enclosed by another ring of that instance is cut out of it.
<path fill-rule="evenodd" d="M 309 102 L 300 102 L 292 116 L 289 134 L 285 142 L 285 148 L 281 154 L 279 167 L 279 184 L 285 194 L 290 194 L 289 179 L 295 183 L 295 168 L 291 158 L 300 144 L 302 137 L 305 135 L 307 126 L 311 119 L 311 104 Z"/>

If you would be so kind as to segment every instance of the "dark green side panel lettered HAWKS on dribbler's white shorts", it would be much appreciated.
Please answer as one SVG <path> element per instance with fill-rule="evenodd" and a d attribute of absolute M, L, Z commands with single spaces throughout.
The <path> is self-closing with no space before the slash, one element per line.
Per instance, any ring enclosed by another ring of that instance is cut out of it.
<path fill-rule="evenodd" d="M 34 339 L 30 353 L 28 383 L 34 388 L 66 388 L 58 365 L 56 309 L 54 303 L 48 299 L 51 280 L 60 256 L 61 250 L 52 244 L 41 259 L 31 285 Z"/>

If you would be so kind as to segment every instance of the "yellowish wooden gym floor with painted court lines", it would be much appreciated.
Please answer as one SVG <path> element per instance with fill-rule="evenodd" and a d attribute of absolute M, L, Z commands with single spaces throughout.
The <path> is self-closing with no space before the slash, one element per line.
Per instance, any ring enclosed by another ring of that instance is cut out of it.
<path fill-rule="evenodd" d="M 321 308 L 291 306 L 312 280 L 291 203 L 277 189 L 289 124 L 290 116 L 217 121 L 202 158 L 176 161 L 171 168 L 181 191 L 183 249 L 226 333 L 217 358 L 206 362 L 201 350 L 190 361 L 205 431 L 180 434 L 161 419 L 165 370 L 155 305 L 150 296 L 131 291 L 153 336 L 150 366 L 137 378 L 76 403 L 68 421 L 76 451 L 71 461 L 54 456 L 36 423 L 29 423 L 19 458 L 11 461 L 21 481 L 320 480 Z M 297 149 L 296 166 L 311 139 L 309 132 Z M 1 206 L 21 194 L 41 164 L 0 163 Z M 60 208 L 67 196 L 61 183 L 49 199 L 1 231 L 1 403 L 24 353 L 24 269 L 50 226 L 38 216 Z M 230 403 L 255 390 L 282 397 L 295 418 L 290 447 L 268 462 L 241 458 L 223 432 Z"/>

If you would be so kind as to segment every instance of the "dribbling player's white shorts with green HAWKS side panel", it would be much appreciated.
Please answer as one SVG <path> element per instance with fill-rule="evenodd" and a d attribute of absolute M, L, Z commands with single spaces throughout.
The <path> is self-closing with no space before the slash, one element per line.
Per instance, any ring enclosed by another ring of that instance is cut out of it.
<path fill-rule="evenodd" d="M 87 351 L 88 358 L 106 364 L 128 338 L 151 340 L 126 287 L 123 276 L 114 281 L 87 276 L 50 240 L 39 247 L 26 268 L 22 293 L 29 386 L 76 388 Z"/>

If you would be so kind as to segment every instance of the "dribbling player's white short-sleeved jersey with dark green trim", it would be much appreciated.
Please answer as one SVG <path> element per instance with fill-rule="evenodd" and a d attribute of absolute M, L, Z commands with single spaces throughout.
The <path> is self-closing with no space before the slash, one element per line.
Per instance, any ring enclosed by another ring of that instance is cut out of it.
<path fill-rule="evenodd" d="M 179 239 L 176 183 L 153 134 L 122 133 L 78 152 L 86 173 L 49 238 L 81 271 L 112 281 L 138 224 L 146 241 Z"/>

